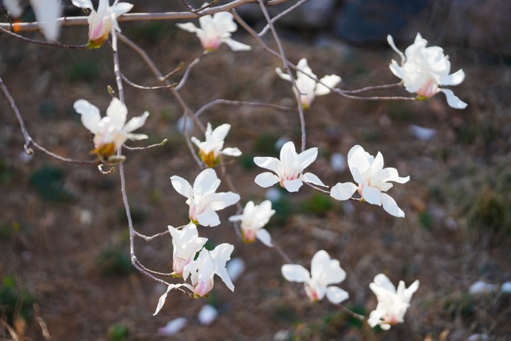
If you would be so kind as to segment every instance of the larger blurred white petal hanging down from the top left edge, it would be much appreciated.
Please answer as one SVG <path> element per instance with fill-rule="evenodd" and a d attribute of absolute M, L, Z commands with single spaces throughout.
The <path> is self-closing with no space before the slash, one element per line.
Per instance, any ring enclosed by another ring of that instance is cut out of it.
<path fill-rule="evenodd" d="M 57 18 L 60 17 L 61 8 L 58 0 L 31 0 L 32 9 L 38 26 L 43 29 L 46 40 L 55 41 L 60 34 L 60 23 Z"/>

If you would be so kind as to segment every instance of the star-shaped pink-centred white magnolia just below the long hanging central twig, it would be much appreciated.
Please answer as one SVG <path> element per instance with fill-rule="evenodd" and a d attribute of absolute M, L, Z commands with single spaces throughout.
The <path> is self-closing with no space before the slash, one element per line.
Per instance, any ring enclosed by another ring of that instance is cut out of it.
<path fill-rule="evenodd" d="M 278 158 L 256 156 L 254 163 L 262 168 L 269 169 L 277 175 L 265 172 L 255 177 L 255 183 L 261 187 L 267 188 L 275 183 L 290 192 L 297 192 L 306 183 L 325 186 L 322 180 L 312 174 L 304 173 L 303 170 L 317 158 L 317 148 L 309 148 L 307 151 L 298 154 L 295 150 L 295 144 L 292 141 L 286 142 L 280 149 L 280 160 Z"/>

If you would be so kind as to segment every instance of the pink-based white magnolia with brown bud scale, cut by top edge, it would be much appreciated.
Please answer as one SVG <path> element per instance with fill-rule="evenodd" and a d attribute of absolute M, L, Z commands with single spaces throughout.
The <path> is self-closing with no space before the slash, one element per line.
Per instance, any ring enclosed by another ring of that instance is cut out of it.
<path fill-rule="evenodd" d="M 98 9 L 95 11 L 91 0 L 72 0 L 72 3 L 81 9 L 91 11 L 89 18 L 87 18 L 89 22 L 89 48 L 99 48 L 103 45 L 112 29 L 121 32 L 117 17 L 128 13 L 133 8 L 133 5 L 127 2 L 116 2 L 113 6 L 110 6 L 109 0 L 99 0 Z"/>

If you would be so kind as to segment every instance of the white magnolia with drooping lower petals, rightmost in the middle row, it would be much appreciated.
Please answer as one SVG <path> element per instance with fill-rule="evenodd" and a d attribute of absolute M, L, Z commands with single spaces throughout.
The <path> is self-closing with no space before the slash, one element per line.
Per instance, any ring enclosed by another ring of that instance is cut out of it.
<path fill-rule="evenodd" d="M 374 156 L 364 151 L 361 146 L 353 146 L 348 153 L 348 167 L 358 185 L 354 183 L 338 183 L 330 191 L 336 200 L 348 200 L 356 190 L 363 200 L 370 204 L 381 206 L 395 217 L 405 217 L 400 207 L 386 192 L 392 188 L 392 183 L 406 183 L 410 176 L 400 178 L 395 168 L 383 168 L 383 156 L 380 152 Z"/>

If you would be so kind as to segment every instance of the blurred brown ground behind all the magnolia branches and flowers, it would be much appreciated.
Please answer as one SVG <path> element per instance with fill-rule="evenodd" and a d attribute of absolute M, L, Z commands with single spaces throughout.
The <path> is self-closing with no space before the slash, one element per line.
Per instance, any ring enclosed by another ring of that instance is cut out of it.
<path fill-rule="evenodd" d="M 181 1 L 132 1 L 132 12 L 185 11 Z M 170 2 L 170 4 L 169 4 Z M 189 1 L 200 6 L 202 1 Z M 70 5 L 70 1 L 67 1 Z M 226 1 L 220 1 L 224 4 Z M 275 16 L 289 4 L 275 6 Z M 67 9 L 68 15 L 81 10 Z M 256 31 L 260 9 L 237 9 Z M 429 45 L 450 56 L 451 72 L 466 79 L 454 93 L 468 103 L 451 109 L 439 94 L 424 102 L 353 101 L 335 94 L 317 97 L 305 112 L 307 148 L 319 156 L 308 170 L 328 185 L 351 181 L 345 156 L 360 144 L 383 153 L 410 182 L 390 195 L 405 219 L 381 207 L 338 202 L 302 188 L 270 193 L 253 183 L 260 168 L 254 156 L 278 156 L 282 141 L 300 143 L 295 112 L 268 107 L 216 106 L 202 114 L 215 126 L 232 125 L 226 146 L 243 156 L 229 173 L 244 205 L 270 196 L 277 211 L 268 231 L 282 249 L 309 269 L 319 249 L 339 259 L 350 293 L 348 308 L 368 315 L 377 301 L 368 288 L 384 273 L 408 285 L 419 279 L 405 323 L 388 332 L 370 329 L 328 301 L 310 303 L 300 283 L 282 278 L 285 261 L 256 242 L 243 244 L 227 222 L 234 207 L 220 212 L 219 227 L 201 227 L 207 247 L 229 242 L 242 271 L 231 293 L 219 278 L 209 298 L 170 293 L 153 317 L 165 288 L 139 274 L 129 258 L 128 224 L 119 175 L 101 175 L 94 166 L 70 166 L 23 151 L 23 135 L 9 102 L 0 99 L 0 337 L 20 340 L 165 340 L 171 320 L 187 324 L 175 340 L 508 340 L 511 327 L 511 13 L 510 1 L 310 0 L 275 27 L 293 63 L 307 58 L 318 77 L 336 74 L 339 87 L 355 90 L 397 82 L 388 64 L 399 56 L 387 45 L 390 33 L 404 51 L 420 32 Z M 5 20 L 5 19 L 3 19 Z M 33 21 L 27 9 L 23 21 Z M 197 24 L 197 21 L 194 21 Z M 189 65 L 202 53 L 192 33 L 174 21 L 121 23 L 123 34 L 141 45 L 160 70 Z M 23 33 L 43 39 L 40 33 Z M 289 82 L 242 29 L 233 36 L 253 47 L 233 53 L 225 45 L 194 67 L 180 91 L 192 109 L 214 99 L 295 106 Z M 265 40 L 276 48 L 270 33 Z M 87 42 L 87 27 L 62 29 L 63 43 Z M 159 85 L 143 60 L 119 47 L 121 70 L 133 82 Z M 87 159 L 89 136 L 72 109 L 87 99 L 104 114 L 115 87 L 109 45 L 97 50 L 63 50 L 0 35 L 0 76 L 39 144 L 69 158 Z M 172 77 L 179 81 L 182 72 Z M 128 117 L 150 112 L 139 131 L 148 151 L 124 151 L 128 200 L 135 228 L 146 235 L 187 222 L 185 198 L 170 176 L 190 182 L 199 173 L 177 121 L 180 106 L 165 90 L 126 85 Z M 406 96 L 403 89 L 369 95 Z M 192 136 L 203 139 L 198 130 Z M 116 170 L 118 171 L 118 170 Z M 224 184 L 221 190 L 228 190 Z M 170 272 L 172 244 L 166 236 L 136 240 L 138 259 L 150 269 Z M 209 325 L 197 314 L 206 304 L 218 312 Z M 10 327 L 8 328 L 7 325 Z M 45 335 L 47 331 L 50 335 Z"/>

